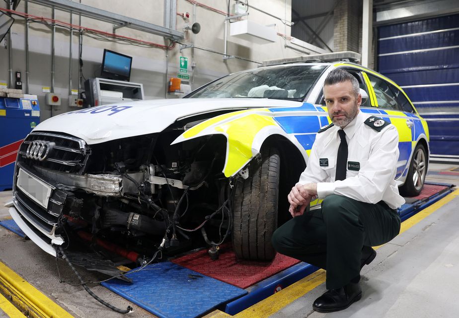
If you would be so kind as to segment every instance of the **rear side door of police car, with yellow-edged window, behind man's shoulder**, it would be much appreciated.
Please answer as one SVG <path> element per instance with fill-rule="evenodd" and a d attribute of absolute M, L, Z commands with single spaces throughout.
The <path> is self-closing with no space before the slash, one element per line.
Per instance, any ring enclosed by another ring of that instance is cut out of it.
<path fill-rule="evenodd" d="M 398 131 L 400 152 L 397 163 L 395 178 L 405 175 L 408 171 L 411 153 L 415 141 L 413 113 L 405 112 L 400 103 L 401 91 L 387 80 L 367 72 L 362 72 L 371 91 L 371 105 L 376 107 L 380 113 L 379 117 L 391 122 Z M 405 97 L 406 98 L 406 97 Z M 405 105 L 406 106 L 406 105 Z M 364 111 L 365 112 L 365 111 Z M 378 116 L 378 115 L 376 115 Z"/>

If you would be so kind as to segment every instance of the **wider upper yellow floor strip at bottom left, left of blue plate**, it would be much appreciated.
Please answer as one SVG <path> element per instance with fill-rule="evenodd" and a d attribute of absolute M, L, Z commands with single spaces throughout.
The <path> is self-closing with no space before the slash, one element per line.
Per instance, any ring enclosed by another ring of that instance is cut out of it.
<path fill-rule="evenodd" d="M 63 308 L 0 262 L 0 283 L 42 317 L 73 318 Z"/>

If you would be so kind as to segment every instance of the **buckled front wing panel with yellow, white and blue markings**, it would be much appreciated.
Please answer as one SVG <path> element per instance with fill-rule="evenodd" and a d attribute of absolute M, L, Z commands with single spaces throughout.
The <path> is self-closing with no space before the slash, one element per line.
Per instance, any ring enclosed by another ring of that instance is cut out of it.
<path fill-rule="evenodd" d="M 303 103 L 299 107 L 258 108 L 235 111 L 208 119 L 185 131 L 173 143 L 211 134 L 227 137 L 227 158 L 224 174 L 229 177 L 237 173 L 256 154 L 253 144 L 264 129 L 273 128 L 272 133 L 295 137 L 309 156 L 315 134 L 330 120 L 324 116 L 322 107 Z M 260 143 L 261 145 L 261 143 Z"/>

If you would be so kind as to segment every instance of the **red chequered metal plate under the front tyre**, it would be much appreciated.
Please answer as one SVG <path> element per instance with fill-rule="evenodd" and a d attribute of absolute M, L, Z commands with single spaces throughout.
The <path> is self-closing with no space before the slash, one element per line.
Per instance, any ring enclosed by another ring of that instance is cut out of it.
<path fill-rule="evenodd" d="M 281 254 L 277 254 L 270 262 L 239 260 L 230 244 L 220 247 L 220 257 L 217 260 L 211 260 L 204 249 L 171 261 L 243 289 L 300 262 Z"/>

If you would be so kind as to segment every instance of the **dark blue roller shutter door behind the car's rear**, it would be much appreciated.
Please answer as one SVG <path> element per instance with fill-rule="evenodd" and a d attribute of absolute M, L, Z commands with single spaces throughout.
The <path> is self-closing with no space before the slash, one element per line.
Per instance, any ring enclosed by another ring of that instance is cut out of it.
<path fill-rule="evenodd" d="M 459 159 L 459 14 L 379 27 L 378 71 L 427 120 L 432 159 Z"/>

